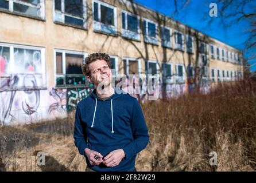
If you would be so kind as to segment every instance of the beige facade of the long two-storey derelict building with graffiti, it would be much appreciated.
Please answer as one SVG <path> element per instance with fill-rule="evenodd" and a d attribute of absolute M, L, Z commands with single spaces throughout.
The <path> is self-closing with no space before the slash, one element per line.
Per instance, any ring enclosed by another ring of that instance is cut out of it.
<path fill-rule="evenodd" d="M 242 77 L 241 51 L 129 1 L 81 0 L 78 10 L 69 8 L 73 5 L 65 5 L 64 0 L 3 2 L 2 124 L 28 122 L 30 116 L 34 120 L 63 117 L 75 108 L 92 90 L 81 73 L 75 72 L 77 65 L 82 63 L 82 57 L 96 51 L 111 55 L 116 74 L 160 74 L 158 92 L 162 92 L 164 83 L 169 96 L 183 93 L 188 85 L 193 85 L 187 79 L 188 65 L 192 66 L 190 77 L 197 74 L 203 78 L 202 87 L 206 90 L 212 82 Z M 205 49 L 199 51 L 197 47 L 202 42 Z M 37 113 L 30 114 L 28 106 Z"/>

